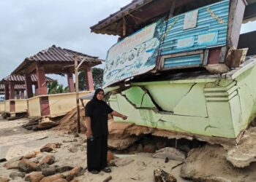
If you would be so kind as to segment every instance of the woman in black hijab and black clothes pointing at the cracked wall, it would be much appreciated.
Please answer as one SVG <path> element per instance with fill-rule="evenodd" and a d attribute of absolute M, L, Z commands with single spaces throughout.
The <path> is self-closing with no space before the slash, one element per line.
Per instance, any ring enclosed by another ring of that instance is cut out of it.
<path fill-rule="evenodd" d="M 97 89 L 94 98 L 86 104 L 86 136 L 87 136 L 87 167 L 93 174 L 103 170 L 110 173 L 108 168 L 108 114 L 127 119 L 127 116 L 113 111 L 103 101 L 104 90 Z"/>

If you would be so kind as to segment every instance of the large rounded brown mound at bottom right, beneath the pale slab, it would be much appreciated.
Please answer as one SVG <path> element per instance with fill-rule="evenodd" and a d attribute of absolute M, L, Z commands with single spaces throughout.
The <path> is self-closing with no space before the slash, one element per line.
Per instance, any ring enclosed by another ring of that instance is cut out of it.
<path fill-rule="evenodd" d="M 236 168 L 225 159 L 226 153 L 222 146 L 217 145 L 192 149 L 181 167 L 181 177 L 193 181 L 255 181 L 256 163 Z"/>

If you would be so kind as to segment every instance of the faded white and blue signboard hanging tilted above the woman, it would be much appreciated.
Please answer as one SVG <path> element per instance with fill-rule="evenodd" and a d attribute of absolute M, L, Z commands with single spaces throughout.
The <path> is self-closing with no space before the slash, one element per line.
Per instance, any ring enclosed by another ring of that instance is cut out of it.
<path fill-rule="evenodd" d="M 156 66 L 163 20 L 140 29 L 108 50 L 103 87 L 151 71 Z"/>

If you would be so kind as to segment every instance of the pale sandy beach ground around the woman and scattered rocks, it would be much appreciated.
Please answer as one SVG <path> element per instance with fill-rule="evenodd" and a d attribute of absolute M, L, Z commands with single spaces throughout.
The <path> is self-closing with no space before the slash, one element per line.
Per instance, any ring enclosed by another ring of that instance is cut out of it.
<path fill-rule="evenodd" d="M 0 120 L 0 145 L 1 156 L 7 160 L 14 157 L 20 157 L 32 151 L 39 151 L 42 146 L 47 143 L 61 143 L 59 149 L 53 150 L 52 154 L 56 158 L 54 165 L 64 166 L 69 165 L 72 167 L 80 166 L 86 168 L 86 137 L 81 134 L 75 138 L 75 135 L 69 135 L 63 131 L 44 130 L 44 131 L 28 131 L 20 126 L 29 119 L 18 119 L 14 121 Z M 49 153 L 40 152 L 37 158 L 42 158 Z M 179 161 L 170 160 L 165 163 L 165 159 L 152 158 L 152 154 L 138 153 L 132 155 L 117 155 L 123 161 L 123 166 L 110 167 L 112 173 L 101 172 L 93 175 L 86 170 L 84 175 L 75 178 L 73 181 L 103 181 L 111 175 L 111 182 L 126 182 L 126 181 L 154 181 L 154 170 L 161 168 L 167 173 L 171 173 L 177 178 L 177 181 L 186 181 L 179 177 L 181 165 Z M 10 178 L 9 175 L 13 171 L 7 170 L 3 167 L 4 162 L 0 163 L 0 176 Z M 23 181 L 22 178 L 16 178 L 11 181 Z"/>

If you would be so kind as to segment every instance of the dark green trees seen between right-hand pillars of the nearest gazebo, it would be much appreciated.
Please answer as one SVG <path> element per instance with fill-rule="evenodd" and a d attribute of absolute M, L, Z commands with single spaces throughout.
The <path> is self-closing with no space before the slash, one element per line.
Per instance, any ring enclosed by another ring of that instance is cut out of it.
<path fill-rule="evenodd" d="M 94 89 L 102 87 L 103 82 L 103 69 L 102 68 L 92 68 L 92 77 L 94 80 Z M 86 76 L 84 71 L 80 71 L 78 74 L 78 87 L 79 90 L 86 90 Z"/>

